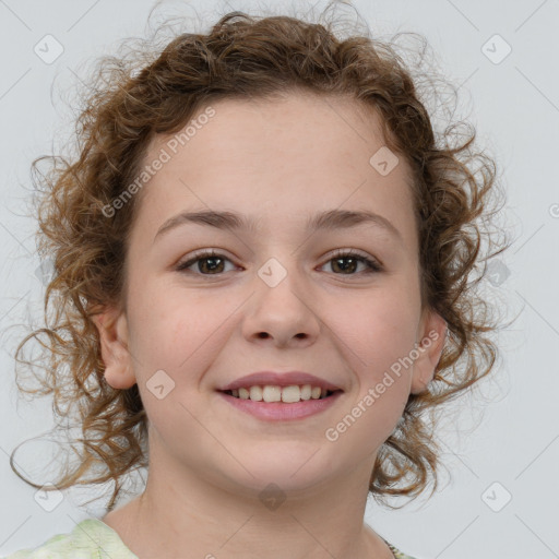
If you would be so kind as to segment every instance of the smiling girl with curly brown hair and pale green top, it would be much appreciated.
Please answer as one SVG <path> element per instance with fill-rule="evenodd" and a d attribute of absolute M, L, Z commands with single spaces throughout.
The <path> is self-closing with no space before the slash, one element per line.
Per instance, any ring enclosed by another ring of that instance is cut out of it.
<path fill-rule="evenodd" d="M 122 68 L 46 177 L 34 334 L 84 435 L 56 487 L 115 491 L 13 559 L 409 558 L 366 502 L 436 480 L 426 412 L 491 370 L 492 162 L 436 141 L 390 45 L 321 24 L 230 13 Z"/>

